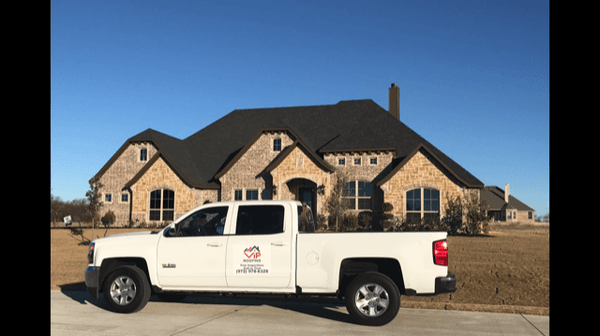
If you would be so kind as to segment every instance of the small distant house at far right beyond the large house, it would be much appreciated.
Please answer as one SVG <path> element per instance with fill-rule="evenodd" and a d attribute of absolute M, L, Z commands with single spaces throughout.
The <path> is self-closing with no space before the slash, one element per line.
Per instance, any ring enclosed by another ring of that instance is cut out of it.
<path fill-rule="evenodd" d="M 535 210 L 511 195 L 508 183 L 504 185 L 504 190 L 497 186 L 485 186 L 481 191 L 481 200 L 490 206 L 488 215 L 496 222 L 535 221 Z"/>

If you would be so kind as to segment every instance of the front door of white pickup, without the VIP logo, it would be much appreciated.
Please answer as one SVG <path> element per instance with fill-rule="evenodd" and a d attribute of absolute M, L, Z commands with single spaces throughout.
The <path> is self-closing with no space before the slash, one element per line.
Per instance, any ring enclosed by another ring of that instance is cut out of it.
<path fill-rule="evenodd" d="M 204 208 L 175 225 L 158 243 L 158 281 L 163 287 L 226 287 L 228 206 Z"/>

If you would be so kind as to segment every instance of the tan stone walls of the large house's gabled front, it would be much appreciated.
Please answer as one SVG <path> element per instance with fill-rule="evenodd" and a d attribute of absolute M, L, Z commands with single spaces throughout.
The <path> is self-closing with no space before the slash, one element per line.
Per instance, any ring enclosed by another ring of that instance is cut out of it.
<path fill-rule="evenodd" d="M 331 192 L 332 174 L 319 168 L 300 147 L 295 148 L 271 171 L 271 174 L 258 176 L 268 164 L 281 154 L 280 151 L 273 150 L 273 140 L 276 138 L 281 139 L 282 151 L 292 145 L 295 140 L 286 132 L 262 134 L 233 167 L 220 178 L 220 191 L 189 187 L 179 179 L 162 158 L 157 160 L 144 176 L 131 186 L 132 194 L 129 194 L 129 191 L 123 191 L 123 186 L 147 163 L 147 161 L 140 161 L 140 150 L 142 148 L 148 150 L 148 160 L 157 153 L 156 147 L 151 143 L 130 144 L 100 179 L 100 182 L 104 184 L 104 188 L 101 190 L 102 201 L 105 200 L 106 194 L 112 195 L 112 201 L 104 203 L 101 216 L 112 210 L 117 218 L 117 222 L 114 224 L 116 226 L 128 225 L 130 212 L 134 223 L 149 222 L 150 193 L 163 188 L 175 191 L 175 219 L 207 201 L 232 201 L 235 190 L 242 190 L 243 199 L 246 198 L 246 190 L 249 189 L 258 190 L 259 199 L 270 199 L 271 197 L 273 199 L 295 199 L 295 191 L 289 190 L 288 185 L 288 182 L 294 179 L 307 179 L 314 182 L 316 186 L 323 185 L 325 187 L 323 195 L 317 194 L 317 207 L 321 215 L 327 215 L 324 212 L 324 205 Z M 345 158 L 345 165 L 339 165 L 340 158 Z M 360 165 L 355 164 L 356 158 L 361 159 Z M 376 165 L 371 164 L 371 158 L 377 158 Z M 456 197 L 463 195 L 467 190 L 452 174 L 437 164 L 436 160 L 425 150 L 416 153 L 381 188 L 376 187 L 376 183 L 392 169 L 393 155 L 390 152 L 328 153 L 324 155 L 324 160 L 337 170 L 347 172 L 351 180 L 373 183 L 373 210 L 378 210 L 383 202 L 389 202 L 394 207 L 393 214 L 399 217 L 404 215 L 405 196 L 408 190 L 415 188 L 439 190 L 441 210 L 446 203 L 447 194 Z M 271 195 L 273 185 L 277 187 L 277 195 Z M 479 192 L 477 189 L 469 190 Z M 127 202 L 121 201 L 122 194 L 128 194 Z M 526 220 L 527 212 L 519 211 L 517 221 Z"/>

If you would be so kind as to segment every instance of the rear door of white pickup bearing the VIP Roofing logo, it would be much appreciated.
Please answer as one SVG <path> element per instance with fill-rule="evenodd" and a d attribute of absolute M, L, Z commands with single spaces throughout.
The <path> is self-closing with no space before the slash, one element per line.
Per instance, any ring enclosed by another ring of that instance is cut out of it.
<path fill-rule="evenodd" d="M 228 287 L 290 286 L 292 224 L 291 219 L 286 223 L 285 210 L 283 205 L 238 207 L 235 231 L 227 243 Z"/>

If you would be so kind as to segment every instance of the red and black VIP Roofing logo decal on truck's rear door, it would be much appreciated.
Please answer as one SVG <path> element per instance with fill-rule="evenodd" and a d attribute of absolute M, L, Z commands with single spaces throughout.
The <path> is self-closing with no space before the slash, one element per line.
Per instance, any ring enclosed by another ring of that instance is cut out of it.
<path fill-rule="evenodd" d="M 234 247 L 233 273 L 237 275 L 269 274 L 270 245 L 237 245 Z"/>

